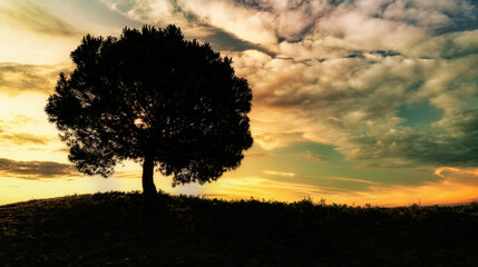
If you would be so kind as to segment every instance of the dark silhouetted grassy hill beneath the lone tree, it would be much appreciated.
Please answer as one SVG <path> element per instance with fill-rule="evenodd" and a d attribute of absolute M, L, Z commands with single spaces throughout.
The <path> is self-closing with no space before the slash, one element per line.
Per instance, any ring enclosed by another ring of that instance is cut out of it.
<path fill-rule="evenodd" d="M 0 206 L 0 266 L 478 266 L 478 204 L 107 192 Z"/>

